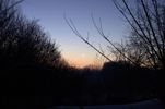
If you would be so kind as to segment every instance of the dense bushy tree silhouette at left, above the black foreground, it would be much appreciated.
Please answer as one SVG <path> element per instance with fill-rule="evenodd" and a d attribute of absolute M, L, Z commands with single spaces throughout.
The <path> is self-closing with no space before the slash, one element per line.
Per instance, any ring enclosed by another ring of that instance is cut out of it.
<path fill-rule="evenodd" d="M 20 1 L 21 2 L 21 1 Z M 19 13 L 11 0 L 0 1 L 0 60 L 2 65 L 49 64 L 58 66 L 58 46 L 37 24 Z"/>

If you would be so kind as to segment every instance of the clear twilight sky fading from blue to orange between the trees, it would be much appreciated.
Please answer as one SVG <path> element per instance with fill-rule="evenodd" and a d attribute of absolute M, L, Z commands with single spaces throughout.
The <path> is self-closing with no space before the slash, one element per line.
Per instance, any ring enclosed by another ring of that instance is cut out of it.
<path fill-rule="evenodd" d="M 96 46 L 104 47 L 106 43 L 93 26 L 91 14 L 97 23 L 102 19 L 104 32 L 113 41 L 121 40 L 127 32 L 126 23 L 111 0 L 25 0 L 21 9 L 28 19 L 39 20 L 45 32 L 59 45 L 63 58 L 76 66 L 94 64 L 96 52 L 73 34 L 64 14 L 73 20 L 84 37 L 89 34 L 89 40 Z"/>

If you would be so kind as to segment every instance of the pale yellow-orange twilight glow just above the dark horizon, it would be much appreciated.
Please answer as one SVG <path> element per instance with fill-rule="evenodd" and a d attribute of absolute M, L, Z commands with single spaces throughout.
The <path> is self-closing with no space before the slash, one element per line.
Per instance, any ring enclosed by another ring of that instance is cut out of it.
<path fill-rule="evenodd" d="M 104 59 L 97 58 L 96 52 L 87 51 L 85 52 L 82 49 L 74 49 L 73 51 L 70 49 L 68 52 L 62 52 L 63 58 L 70 65 L 76 68 L 84 66 L 97 66 L 101 68 L 103 65 Z"/>

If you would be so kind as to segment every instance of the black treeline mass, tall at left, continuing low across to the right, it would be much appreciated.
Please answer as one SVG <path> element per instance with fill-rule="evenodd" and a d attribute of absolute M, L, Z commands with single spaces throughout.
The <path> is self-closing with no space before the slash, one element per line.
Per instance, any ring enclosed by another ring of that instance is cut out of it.
<path fill-rule="evenodd" d="M 0 98 L 9 108 L 126 104 L 156 97 L 154 70 L 123 62 L 79 70 L 62 59 L 37 21 L 19 12 L 21 1 L 0 0 Z"/>

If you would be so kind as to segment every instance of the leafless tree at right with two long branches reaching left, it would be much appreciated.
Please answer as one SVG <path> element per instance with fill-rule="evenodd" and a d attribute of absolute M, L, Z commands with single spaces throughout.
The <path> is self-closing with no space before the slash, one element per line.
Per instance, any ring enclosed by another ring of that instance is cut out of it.
<path fill-rule="evenodd" d="M 121 60 L 129 61 L 135 65 L 148 65 L 152 68 L 165 68 L 165 2 L 164 0 L 113 0 L 115 7 L 131 26 L 128 44 L 115 45 L 105 35 L 102 21 L 98 25 L 92 16 L 93 24 L 102 38 L 113 48 Z M 85 39 L 74 26 L 72 20 L 66 19 L 70 28 L 84 43 L 90 45 L 99 55 L 111 61 L 98 48 Z"/>

